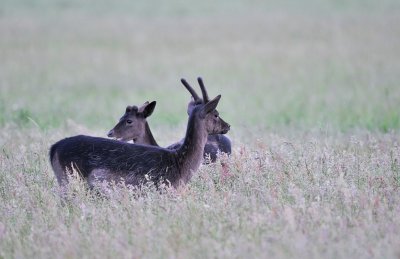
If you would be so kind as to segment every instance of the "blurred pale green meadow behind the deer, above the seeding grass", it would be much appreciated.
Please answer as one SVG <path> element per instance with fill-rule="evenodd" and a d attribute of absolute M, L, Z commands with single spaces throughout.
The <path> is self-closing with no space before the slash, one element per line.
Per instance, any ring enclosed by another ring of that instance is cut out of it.
<path fill-rule="evenodd" d="M 201 75 L 232 130 L 400 128 L 400 2 L 0 1 L 0 128 L 107 131 Z"/>

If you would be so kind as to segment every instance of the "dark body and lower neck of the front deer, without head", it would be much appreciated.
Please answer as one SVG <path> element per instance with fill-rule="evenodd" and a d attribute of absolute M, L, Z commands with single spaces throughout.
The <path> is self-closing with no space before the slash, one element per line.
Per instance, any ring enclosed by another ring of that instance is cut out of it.
<path fill-rule="evenodd" d="M 148 180 L 159 183 L 161 179 L 177 187 L 180 181 L 186 184 L 200 166 L 201 147 L 207 141 L 207 135 L 202 136 L 198 131 L 189 131 L 188 136 L 187 143 L 178 150 L 75 136 L 52 147 L 51 161 L 52 164 L 59 161 L 58 168 L 76 169 L 91 187 L 97 181 L 122 180 L 125 184 L 139 185 Z M 56 174 L 64 175 L 64 172 Z"/>

